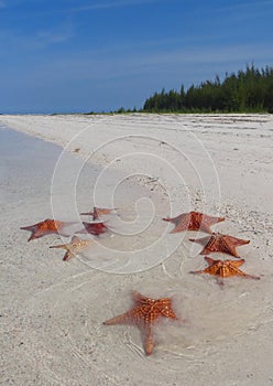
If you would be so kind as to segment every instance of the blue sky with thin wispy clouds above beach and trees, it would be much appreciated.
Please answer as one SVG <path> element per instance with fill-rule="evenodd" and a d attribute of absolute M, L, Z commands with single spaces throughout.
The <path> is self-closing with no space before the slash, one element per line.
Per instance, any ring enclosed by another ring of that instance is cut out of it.
<path fill-rule="evenodd" d="M 273 0 L 0 0 L 0 112 L 140 108 L 273 65 Z"/>

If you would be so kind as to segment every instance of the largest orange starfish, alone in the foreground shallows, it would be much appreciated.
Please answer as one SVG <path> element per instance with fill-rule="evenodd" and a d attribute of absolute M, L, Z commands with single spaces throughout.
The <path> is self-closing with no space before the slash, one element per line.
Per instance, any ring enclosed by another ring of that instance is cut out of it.
<path fill-rule="evenodd" d="M 151 355 L 154 349 L 152 325 L 161 318 L 177 320 L 172 309 L 172 299 L 152 299 L 143 297 L 141 293 L 132 292 L 134 307 L 125 313 L 109 319 L 103 324 L 135 324 L 144 334 L 144 349 L 146 355 Z"/>

